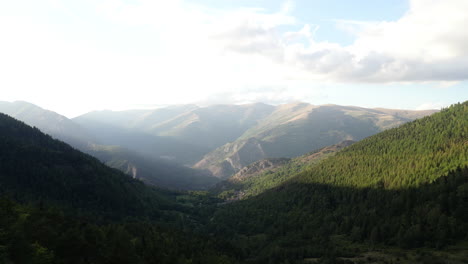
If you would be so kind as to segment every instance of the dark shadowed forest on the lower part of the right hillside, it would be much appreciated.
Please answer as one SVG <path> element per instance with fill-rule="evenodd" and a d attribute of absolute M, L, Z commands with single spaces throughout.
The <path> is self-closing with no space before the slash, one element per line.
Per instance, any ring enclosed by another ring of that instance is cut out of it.
<path fill-rule="evenodd" d="M 333 236 L 401 248 L 468 239 L 468 168 L 420 187 L 385 190 L 288 183 L 216 212 L 210 228 L 252 263 L 352 256 Z"/>

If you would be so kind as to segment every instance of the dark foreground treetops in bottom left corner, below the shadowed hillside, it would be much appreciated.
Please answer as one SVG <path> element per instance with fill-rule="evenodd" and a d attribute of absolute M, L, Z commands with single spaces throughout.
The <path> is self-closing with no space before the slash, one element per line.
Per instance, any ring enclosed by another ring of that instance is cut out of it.
<path fill-rule="evenodd" d="M 150 221 L 98 225 L 0 199 L 0 263 L 233 263 L 223 251 L 234 252 L 223 242 Z"/>

